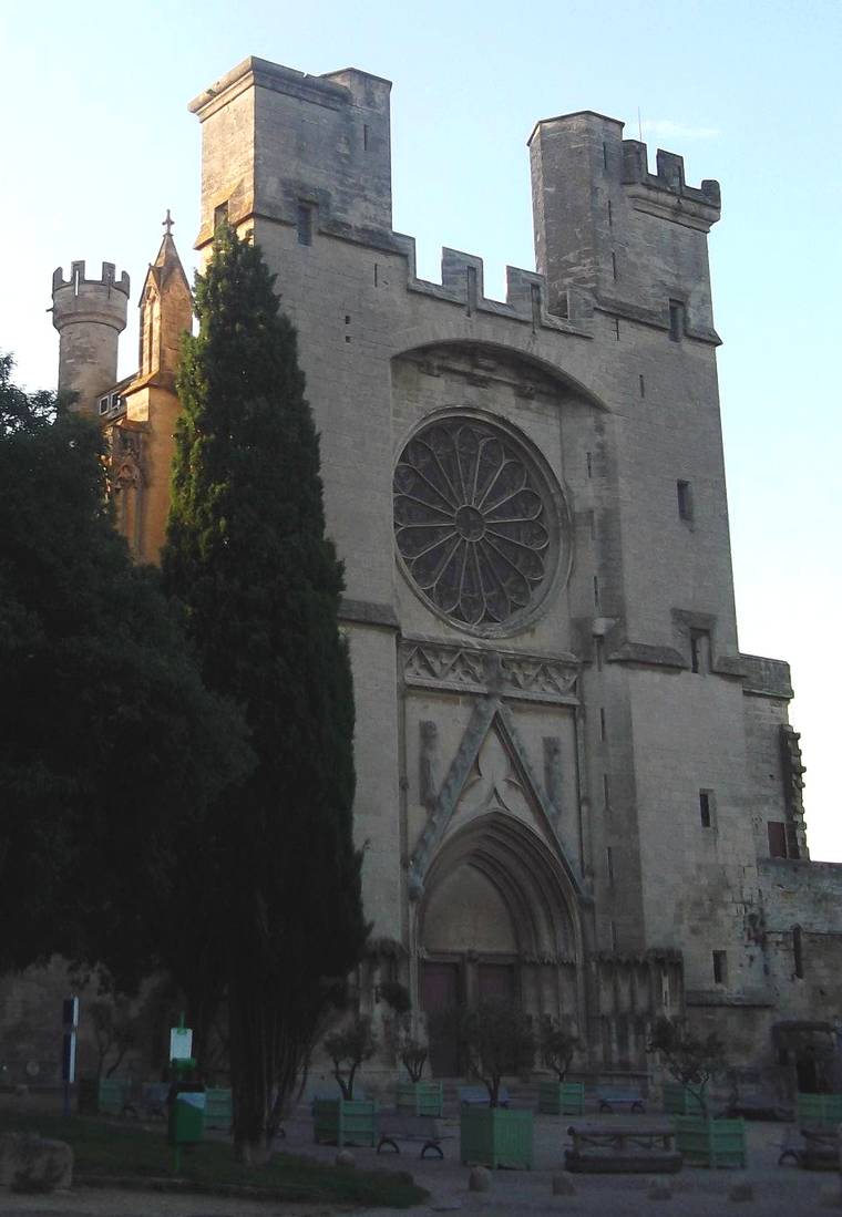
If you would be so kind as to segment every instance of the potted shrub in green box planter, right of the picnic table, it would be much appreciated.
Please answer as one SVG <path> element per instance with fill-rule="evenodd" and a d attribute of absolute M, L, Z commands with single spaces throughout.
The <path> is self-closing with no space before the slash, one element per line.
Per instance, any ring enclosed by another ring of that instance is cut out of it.
<path fill-rule="evenodd" d="M 659 1053 L 664 1069 L 679 1088 L 672 1103 L 684 1095 L 685 1114 L 675 1115 L 675 1148 L 689 1166 L 746 1165 L 743 1120 L 715 1120 L 708 1109 L 707 1087 L 723 1067 L 724 1044 L 711 1032 L 695 1036 L 684 1020 L 656 1019 L 647 1051 Z M 669 1093 L 669 1092 L 668 1092 Z M 690 1114 L 687 1114 L 690 1112 Z"/>

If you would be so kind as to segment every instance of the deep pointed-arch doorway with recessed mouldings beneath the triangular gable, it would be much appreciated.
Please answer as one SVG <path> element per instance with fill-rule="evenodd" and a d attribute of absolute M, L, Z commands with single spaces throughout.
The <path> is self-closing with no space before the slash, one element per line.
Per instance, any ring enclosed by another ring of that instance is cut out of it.
<path fill-rule="evenodd" d="M 461 1072 L 455 1020 L 444 1016 L 456 1006 L 511 998 L 582 1026 L 577 898 L 560 860 L 517 817 L 488 812 L 444 842 L 427 871 L 417 942 L 436 1076 Z"/>

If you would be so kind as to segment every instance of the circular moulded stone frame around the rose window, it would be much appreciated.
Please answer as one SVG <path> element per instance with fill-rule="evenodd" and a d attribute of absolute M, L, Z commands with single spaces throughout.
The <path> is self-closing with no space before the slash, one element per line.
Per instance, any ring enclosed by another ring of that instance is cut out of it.
<path fill-rule="evenodd" d="M 481 623 L 473 626 L 458 617 L 450 616 L 440 608 L 416 583 L 412 572 L 410 571 L 398 546 L 393 509 L 392 531 L 394 535 L 395 557 L 398 568 L 414 595 L 416 595 L 417 599 L 432 613 L 434 613 L 436 617 L 447 622 L 451 629 L 470 634 L 475 638 L 509 638 L 515 634 L 523 633 L 546 612 L 552 598 L 557 595 L 563 587 L 566 587 L 573 565 L 573 529 L 571 525 L 571 512 L 567 495 L 565 494 L 565 490 L 558 483 L 558 478 L 543 453 L 528 438 L 528 436 L 520 430 L 520 427 L 513 426 L 499 415 L 485 410 L 478 410 L 476 408 L 444 408 L 434 411 L 433 414 L 425 415 L 425 417 L 421 419 L 402 439 L 395 453 L 394 467 L 392 471 L 392 497 L 394 501 L 394 473 L 400 464 L 406 447 L 412 442 L 412 439 L 417 439 L 425 431 L 437 424 L 471 422 L 472 420 L 483 424 L 492 431 L 499 431 L 507 443 L 516 449 L 534 479 L 535 489 L 541 495 L 546 507 L 548 526 L 550 532 L 550 556 L 548 557 L 545 577 L 533 594 L 532 602 L 520 612 L 512 613 L 512 616 L 507 617 L 504 622 Z"/>

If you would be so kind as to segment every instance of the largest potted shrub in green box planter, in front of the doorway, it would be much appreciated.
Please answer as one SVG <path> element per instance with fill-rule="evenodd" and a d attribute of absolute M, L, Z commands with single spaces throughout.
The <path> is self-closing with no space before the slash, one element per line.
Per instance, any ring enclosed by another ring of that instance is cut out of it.
<path fill-rule="evenodd" d="M 462 1050 L 470 1077 L 488 1092 L 488 1106 L 462 1104 L 459 1133 L 465 1163 L 532 1168 L 532 1111 L 500 1106 L 506 1075 L 532 1069 L 535 1041 L 529 1019 L 518 1005 L 483 1000 L 461 1019 Z"/>

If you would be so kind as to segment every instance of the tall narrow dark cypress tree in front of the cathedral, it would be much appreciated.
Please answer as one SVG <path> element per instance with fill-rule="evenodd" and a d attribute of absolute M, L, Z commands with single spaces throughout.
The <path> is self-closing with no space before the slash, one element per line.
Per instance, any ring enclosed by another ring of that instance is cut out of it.
<path fill-rule="evenodd" d="M 219 807 L 218 958 L 235 1142 L 270 1138 L 366 936 L 352 836 L 353 690 L 296 332 L 258 248 L 223 226 L 185 340 L 165 585 L 207 684 L 242 710 L 252 775 Z M 273 1103 L 273 1090 L 275 1101 Z"/>

